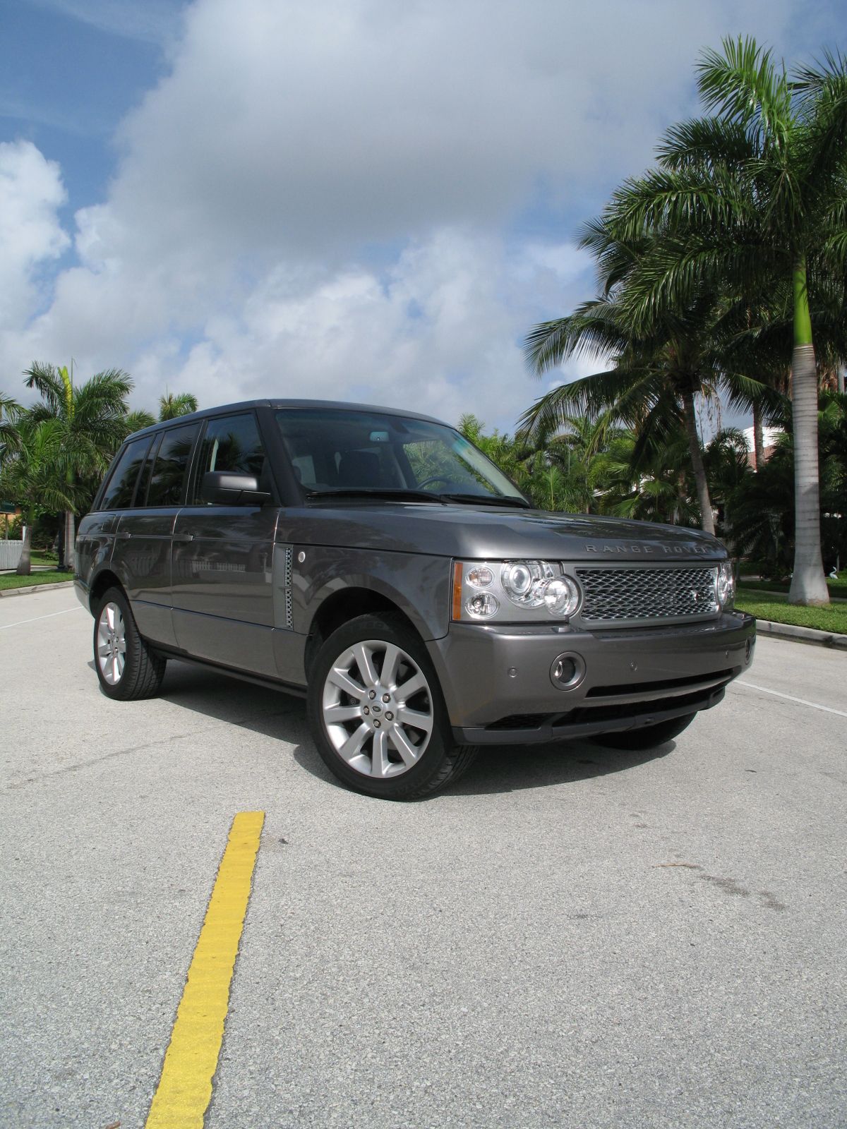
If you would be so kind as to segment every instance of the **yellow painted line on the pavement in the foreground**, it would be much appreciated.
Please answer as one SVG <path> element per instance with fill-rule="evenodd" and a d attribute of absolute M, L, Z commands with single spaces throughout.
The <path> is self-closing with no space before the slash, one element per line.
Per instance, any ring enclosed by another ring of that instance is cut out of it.
<path fill-rule="evenodd" d="M 145 1129 L 202 1129 L 263 823 L 264 812 L 233 820 Z"/>

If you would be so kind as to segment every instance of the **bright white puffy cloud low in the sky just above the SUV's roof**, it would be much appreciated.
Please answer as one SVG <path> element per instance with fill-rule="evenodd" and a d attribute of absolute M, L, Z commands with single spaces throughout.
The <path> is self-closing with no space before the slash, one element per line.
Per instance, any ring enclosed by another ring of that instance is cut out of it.
<path fill-rule="evenodd" d="M 531 257 L 455 228 L 407 247 L 383 273 L 351 266 L 306 277 L 279 266 L 241 316 L 209 320 L 173 384 L 207 403 L 236 395 L 364 400 L 447 420 L 474 411 L 510 426 L 536 394 L 519 345 L 525 315 L 504 300 L 513 273 L 552 288 Z M 576 277 L 558 277 L 560 301 L 576 299 Z M 148 367 L 156 366 L 142 358 L 136 374 Z"/>

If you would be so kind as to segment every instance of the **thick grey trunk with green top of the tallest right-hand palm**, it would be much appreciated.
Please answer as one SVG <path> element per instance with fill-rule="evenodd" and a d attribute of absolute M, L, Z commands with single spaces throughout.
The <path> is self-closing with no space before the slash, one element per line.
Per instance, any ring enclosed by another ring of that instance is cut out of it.
<path fill-rule="evenodd" d="M 818 370 L 809 315 L 805 259 L 794 269 L 794 575 L 789 604 L 828 604 L 821 560 L 821 507 L 818 467 Z"/>

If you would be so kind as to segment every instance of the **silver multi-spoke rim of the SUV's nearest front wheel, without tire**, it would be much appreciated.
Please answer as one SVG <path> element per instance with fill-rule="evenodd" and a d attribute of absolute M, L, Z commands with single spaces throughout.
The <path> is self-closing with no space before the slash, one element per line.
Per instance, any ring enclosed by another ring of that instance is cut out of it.
<path fill-rule="evenodd" d="M 433 734 L 433 695 L 410 655 L 367 639 L 339 655 L 323 688 L 323 718 L 335 752 L 369 777 L 412 768 Z"/>

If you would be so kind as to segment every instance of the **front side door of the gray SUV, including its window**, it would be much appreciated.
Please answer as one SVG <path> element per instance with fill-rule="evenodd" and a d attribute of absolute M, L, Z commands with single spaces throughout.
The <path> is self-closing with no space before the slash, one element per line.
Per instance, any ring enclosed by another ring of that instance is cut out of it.
<path fill-rule="evenodd" d="M 174 527 L 172 577 L 177 646 L 197 658 L 273 677 L 276 498 L 264 506 L 209 505 L 209 471 L 253 474 L 274 491 L 253 411 L 206 423 L 192 485 Z"/>

